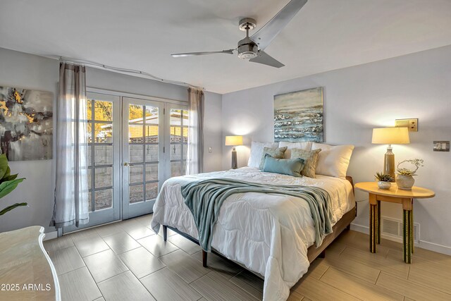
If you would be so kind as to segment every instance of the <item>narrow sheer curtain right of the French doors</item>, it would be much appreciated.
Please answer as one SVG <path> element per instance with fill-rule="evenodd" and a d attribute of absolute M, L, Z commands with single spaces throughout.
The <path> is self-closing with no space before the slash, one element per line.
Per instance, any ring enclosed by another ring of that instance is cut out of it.
<path fill-rule="evenodd" d="M 204 171 L 204 92 L 188 89 L 190 130 L 188 131 L 187 174 Z"/>

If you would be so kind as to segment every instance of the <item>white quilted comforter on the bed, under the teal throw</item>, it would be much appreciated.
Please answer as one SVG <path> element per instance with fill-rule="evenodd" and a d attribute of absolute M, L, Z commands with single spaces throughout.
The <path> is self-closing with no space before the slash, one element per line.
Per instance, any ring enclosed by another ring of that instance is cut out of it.
<path fill-rule="evenodd" d="M 201 173 L 166 180 L 154 205 L 152 228 L 171 226 L 198 238 L 193 216 L 184 204 L 180 186 L 206 178 L 233 178 L 276 185 L 309 185 L 332 197 L 335 224 L 354 207 L 349 181 L 328 176 L 295 178 L 264 173 L 257 168 Z M 314 244 L 314 226 L 307 202 L 288 195 L 247 192 L 223 203 L 214 226 L 211 247 L 265 277 L 264 300 L 286 300 L 290 288 L 309 268 L 307 248 Z"/>

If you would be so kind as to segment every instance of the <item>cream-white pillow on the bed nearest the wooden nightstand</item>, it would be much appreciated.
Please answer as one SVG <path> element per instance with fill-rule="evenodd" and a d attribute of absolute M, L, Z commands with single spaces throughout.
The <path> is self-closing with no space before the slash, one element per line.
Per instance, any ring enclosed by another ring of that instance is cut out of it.
<path fill-rule="evenodd" d="M 334 147 L 313 142 L 311 149 L 321 149 L 318 165 L 316 166 L 316 174 L 346 178 L 347 166 L 350 165 L 354 145 L 337 145 Z"/>

